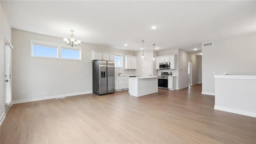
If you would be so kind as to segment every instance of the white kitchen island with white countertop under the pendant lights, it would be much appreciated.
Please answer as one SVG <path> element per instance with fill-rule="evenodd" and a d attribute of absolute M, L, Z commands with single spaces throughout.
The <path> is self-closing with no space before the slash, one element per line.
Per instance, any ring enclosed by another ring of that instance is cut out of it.
<path fill-rule="evenodd" d="M 157 76 L 138 76 L 129 78 L 129 90 L 131 96 L 144 96 L 158 92 Z"/>

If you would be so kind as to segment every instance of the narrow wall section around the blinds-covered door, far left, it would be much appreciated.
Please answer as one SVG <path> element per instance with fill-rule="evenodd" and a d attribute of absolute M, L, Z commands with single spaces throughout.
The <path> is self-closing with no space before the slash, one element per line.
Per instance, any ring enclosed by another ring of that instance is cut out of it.
<path fill-rule="evenodd" d="M 7 20 L 7 17 L 4 13 L 4 10 L 2 8 L 2 5 L 0 3 L 0 26 L 1 26 L 1 31 L 0 31 L 0 124 L 5 116 L 5 96 L 4 96 L 4 49 L 5 49 L 5 40 L 8 42 L 12 42 L 12 28 Z M 15 48 L 14 48 L 15 49 Z"/>

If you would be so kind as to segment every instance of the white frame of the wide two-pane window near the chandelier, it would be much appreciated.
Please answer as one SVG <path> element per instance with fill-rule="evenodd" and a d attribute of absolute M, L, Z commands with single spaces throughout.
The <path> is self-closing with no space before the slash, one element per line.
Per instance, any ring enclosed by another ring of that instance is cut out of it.
<path fill-rule="evenodd" d="M 33 44 L 38 44 L 38 45 L 42 45 L 42 46 L 48 46 L 48 47 L 57 48 L 57 58 L 46 57 L 46 56 L 33 56 L 32 55 L 33 54 Z M 61 49 L 62 48 L 80 51 L 80 59 L 61 58 Z M 63 44 L 55 44 L 55 43 L 51 43 L 51 42 L 43 42 L 43 41 L 39 41 L 39 40 L 32 40 L 32 39 L 30 39 L 30 57 L 33 57 L 33 58 L 51 58 L 51 59 L 59 59 L 59 60 L 77 60 L 77 61 L 82 61 L 82 47 L 78 47 L 78 46 L 72 47 L 72 46 L 63 45 Z"/>

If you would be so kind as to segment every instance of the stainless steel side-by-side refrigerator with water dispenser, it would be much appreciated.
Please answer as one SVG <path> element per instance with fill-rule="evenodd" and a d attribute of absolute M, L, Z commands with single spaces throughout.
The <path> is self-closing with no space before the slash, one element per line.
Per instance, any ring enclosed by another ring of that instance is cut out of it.
<path fill-rule="evenodd" d="M 115 92 L 115 62 L 97 60 L 92 62 L 92 92 L 102 95 Z"/>

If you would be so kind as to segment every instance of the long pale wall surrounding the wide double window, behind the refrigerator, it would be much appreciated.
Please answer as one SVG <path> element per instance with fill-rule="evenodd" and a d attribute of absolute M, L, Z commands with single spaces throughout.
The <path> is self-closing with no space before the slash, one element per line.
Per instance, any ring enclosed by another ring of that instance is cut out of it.
<path fill-rule="evenodd" d="M 92 92 L 91 50 L 134 56 L 134 52 L 82 42 L 82 61 L 30 57 L 30 39 L 64 44 L 62 38 L 12 29 L 13 100 Z M 88 72 L 88 74 L 86 74 Z M 116 73 L 135 74 L 136 70 L 116 68 Z M 88 88 L 86 88 L 86 85 Z M 22 94 L 22 91 L 25 94 Z M 17 101 L 18 100 L 18 101 Z M 21 101 L 20 101 L 21 100 Z"/>

